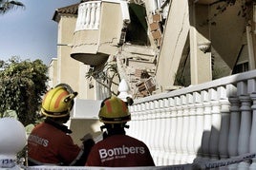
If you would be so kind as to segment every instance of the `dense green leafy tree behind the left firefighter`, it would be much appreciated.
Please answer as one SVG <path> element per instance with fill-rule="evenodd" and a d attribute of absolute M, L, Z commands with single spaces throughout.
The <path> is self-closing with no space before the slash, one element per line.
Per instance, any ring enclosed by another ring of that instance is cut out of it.
<path fill-rule="evenodd" d="M 46 92 L 47 66 L 41 60 L 21 61 L 12 57 L 0 62 L 0 113 L 14 110 L 18 120 L 27 125 L 38 116 L 41 96 Z"/>

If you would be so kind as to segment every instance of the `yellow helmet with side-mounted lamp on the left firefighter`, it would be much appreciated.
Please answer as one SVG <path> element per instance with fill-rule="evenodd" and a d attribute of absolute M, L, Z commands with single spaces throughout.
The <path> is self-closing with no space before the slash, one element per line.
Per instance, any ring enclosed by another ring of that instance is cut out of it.
<path fill-rule="evenodd" d="M 65 117 L 70 114 L 76 96 L 77 92 L 68 90 L 64 85 L 57 85 L 46 93 L 41 112 L 47 117 Z"/>

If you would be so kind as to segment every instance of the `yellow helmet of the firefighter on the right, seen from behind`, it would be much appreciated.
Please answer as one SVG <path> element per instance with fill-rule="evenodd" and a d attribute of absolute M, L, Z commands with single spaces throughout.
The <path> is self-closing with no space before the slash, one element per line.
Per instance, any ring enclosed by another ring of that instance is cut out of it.
<path fill-rule="evenodd" d="M 116 96 L 107 98 L 101 103 L 98 117 L 102 123 L 126 123 L 131 121 L 127 104 Z"/>

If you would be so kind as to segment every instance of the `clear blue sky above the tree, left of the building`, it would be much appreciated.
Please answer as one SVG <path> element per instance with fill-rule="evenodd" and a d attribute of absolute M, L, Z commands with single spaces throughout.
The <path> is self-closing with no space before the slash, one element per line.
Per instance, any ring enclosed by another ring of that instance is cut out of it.
<path fill-rule="evenodd" d="M 53 13 L 80 0 L 19 1 L 25 9 L 0 14 L 0 60 L 19 56 L 22 60 L 40 59 L 49 65 L 57 55 L 57 23 Z"/>

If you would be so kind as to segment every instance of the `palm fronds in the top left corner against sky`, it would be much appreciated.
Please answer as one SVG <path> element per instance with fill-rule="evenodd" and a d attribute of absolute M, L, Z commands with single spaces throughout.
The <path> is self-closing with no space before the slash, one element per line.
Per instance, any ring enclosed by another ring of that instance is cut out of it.
<path fill-rule="evenodd" d="M 25 8 L 19 1 L 0 0 L 0 14 L 5 14 L 10 9 Z"/>

